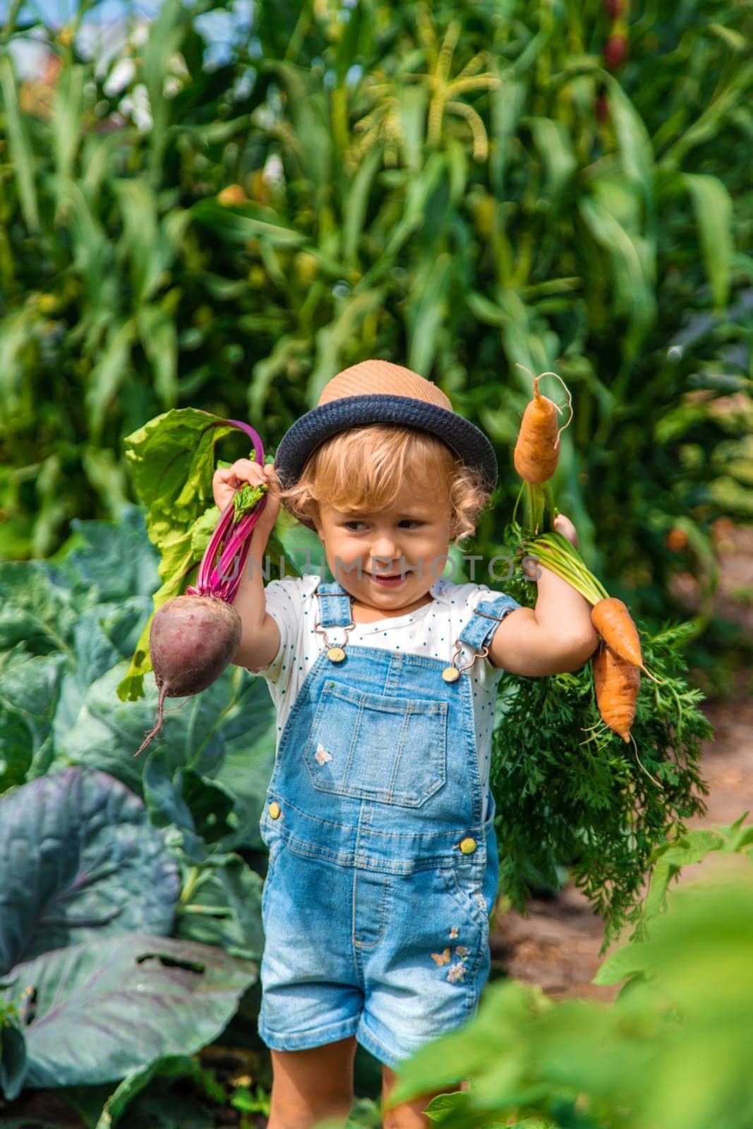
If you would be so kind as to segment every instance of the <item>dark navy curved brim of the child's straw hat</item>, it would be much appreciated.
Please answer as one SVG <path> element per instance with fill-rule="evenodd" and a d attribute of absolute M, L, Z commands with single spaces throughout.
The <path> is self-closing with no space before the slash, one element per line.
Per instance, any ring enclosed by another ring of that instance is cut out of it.
<path fill-rule="evenodd" d="M 306 460 L 333 435 L 369 423 L 393 423 L 429 431 L 450 447 L 466 466 L 478 470 L 488 490 L 497 485 L 497 456 L 487 436 L 473 423 L 436 404 L 408 396 L 343 396 L 313 408 L 283 435 L 274 469 L 284 489 L 295 485 Z"/>

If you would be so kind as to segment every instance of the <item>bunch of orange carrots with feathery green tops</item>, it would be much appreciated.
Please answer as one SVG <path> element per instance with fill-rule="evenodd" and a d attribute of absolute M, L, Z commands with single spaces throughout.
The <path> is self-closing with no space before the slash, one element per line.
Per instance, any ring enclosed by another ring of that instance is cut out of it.
<path fill-rule="evenodd" d="M 553 528 L 554 405 L 542 412 L 535 380 L 534 393 L 535 411 L 522 425 L 528 431 L 525 480 L 504 535 L 517 563 L 507 590 L 534 605 L 535 578 L 526 567 L 534 558 L 593 605 L 602 642 L 579 671 L 548 679 L 506 674 L 500 685 L 491 765 L 500 886 L 523 911 L 532 887 L 559 889 L 569 873 L 603 917 L 606 947 L 637 919 L 655 851 L 704 811 L 701 742 L 712 728 L 699 709 L 703 695 L 683 677 L 693 625 L 665 623 L 639 634 L 628 607 Z M 531 460 L 537 448 L 541 474 Z M 642 684 L 641 669 L 650 679 Z"/>

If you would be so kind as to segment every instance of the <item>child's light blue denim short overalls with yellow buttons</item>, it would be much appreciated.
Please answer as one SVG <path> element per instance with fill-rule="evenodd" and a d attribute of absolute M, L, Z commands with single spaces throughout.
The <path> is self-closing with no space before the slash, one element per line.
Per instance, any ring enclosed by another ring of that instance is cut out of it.
<path fill-rule="evenodd" d="M 479 603 L 441 662 L 348 645 L 350 597 L 338 581 L 316 596 L 325 646 L 261 819 L 259 1031 L 274 1050 L 354 1034 L 397 1069 L 473 1014 L 489 973 L 499 859 L 491 794 L 481 819 L 471 674 L 519 605 Z"/>

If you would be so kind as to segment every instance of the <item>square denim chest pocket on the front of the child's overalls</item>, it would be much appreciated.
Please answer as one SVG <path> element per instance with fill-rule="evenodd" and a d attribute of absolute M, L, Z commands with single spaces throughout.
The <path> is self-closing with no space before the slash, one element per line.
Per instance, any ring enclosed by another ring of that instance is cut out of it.
<path fill-rule="evenodd" d="M 304 760 L 319 791 L 420 807 L 445 784 L 447 702 L 371 694 L 327 679 Z"/>

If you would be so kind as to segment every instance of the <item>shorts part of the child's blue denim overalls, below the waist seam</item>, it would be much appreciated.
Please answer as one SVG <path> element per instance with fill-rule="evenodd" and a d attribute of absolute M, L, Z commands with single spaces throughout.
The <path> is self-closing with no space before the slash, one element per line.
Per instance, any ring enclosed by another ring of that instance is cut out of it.
<path fill-rule="evenodd" d="M 272 841 L 262 895 L 261 1038 L 305 1050 L 356 1035 L 397 1070 L 471 1018 L 489 974 L 499 864 L 457 851 L 412 873 L 322 861 Z"/>

